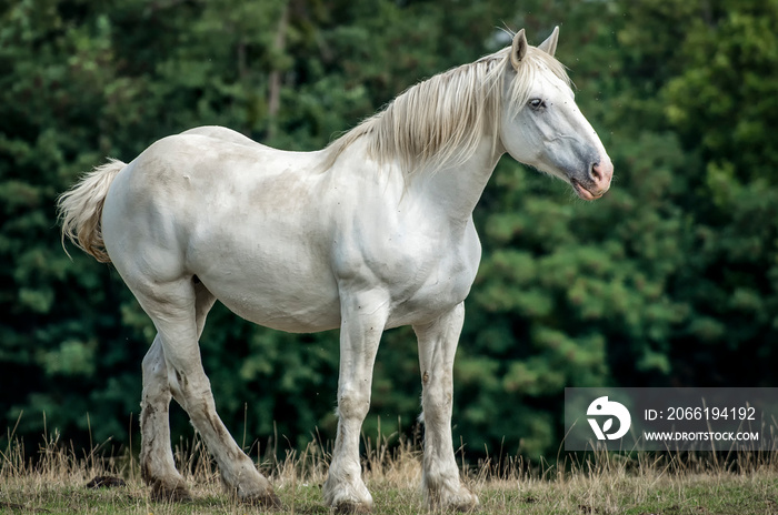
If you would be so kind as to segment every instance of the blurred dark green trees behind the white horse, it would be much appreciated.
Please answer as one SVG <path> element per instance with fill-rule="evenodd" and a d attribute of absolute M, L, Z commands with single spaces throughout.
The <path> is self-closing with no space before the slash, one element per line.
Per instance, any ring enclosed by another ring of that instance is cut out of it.
<path fill-rule="evenodd" d="M 106 156 L 202 124 L 313 150 L 412 83 L 561 28 L 615 165 L 594 203 L 503 159 L 456 364 L 455 441 L 531 458 L 566 386 L 778 386 L 778 0 L 11 0 L 0 7 L 0 420 L 138 442 L 153 327 L 60 246 L 54 200 Z M 201 347 L 238 442 L 335 435 L 336 332 L 217 306 Z M 416 344 L 386 334 L 365 431 L 410 432 Z M 43 415 L 44 414 L 44 415 Z M 190 435 L 172 413 L 174 434 Z M 281 442 L 283 444 L 283 442 Z"/>

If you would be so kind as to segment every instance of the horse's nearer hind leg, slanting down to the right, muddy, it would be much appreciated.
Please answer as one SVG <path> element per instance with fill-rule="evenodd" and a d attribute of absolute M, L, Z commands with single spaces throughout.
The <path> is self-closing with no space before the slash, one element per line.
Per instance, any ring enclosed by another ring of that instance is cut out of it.
<path fill-rule="evenodd" d="M 133 292 L 159 332 L 170 393 L 202 435 L 226 486 L 240 499 L 278 505 L 268 479 L 257 472 L 216 413 L 210 382 L 200 361 L 198 333 L 201 323 L 198 324 L 196 285 L 189 279 L 181 279 L 136 287 Z M 170 453 L 169 446 L 166 452 Z"/>

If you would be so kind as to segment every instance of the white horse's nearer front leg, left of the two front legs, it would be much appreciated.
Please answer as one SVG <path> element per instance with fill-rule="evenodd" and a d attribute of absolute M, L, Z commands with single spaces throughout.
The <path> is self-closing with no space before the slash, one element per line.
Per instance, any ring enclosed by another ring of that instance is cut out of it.
<path fill-rule="evenodd" d="M 367 513 L 372 496 L 361 477 L 359 435 L 370 407 L 372 368 L 388 301 L 376 292 L 341 297 L 338 434 L 323 495 L 341 513 Z"/>

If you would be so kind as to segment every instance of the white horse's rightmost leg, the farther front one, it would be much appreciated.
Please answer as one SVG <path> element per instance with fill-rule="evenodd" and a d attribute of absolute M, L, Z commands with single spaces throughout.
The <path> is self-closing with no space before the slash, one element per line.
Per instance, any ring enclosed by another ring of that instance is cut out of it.
<path fill-rule="evenodd" d="M 431 323 L 415 325 L 421 365 L 421 407 L 425 421 L 422 488 L 430 508 L 470 511 L 478 497 L 459 481 L 451 441 L 453 356 L 462 331 L 465 306 Z"/>

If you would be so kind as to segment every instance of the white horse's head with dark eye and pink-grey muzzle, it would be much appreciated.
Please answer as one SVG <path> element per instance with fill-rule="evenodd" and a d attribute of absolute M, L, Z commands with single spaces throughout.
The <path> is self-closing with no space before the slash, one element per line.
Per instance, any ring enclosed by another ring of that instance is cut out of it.
<path fill-rule="evenodd" d="M 500 140 L 517 161 L 562 179 L 581 199 L 595 200 L 608 191 L 614 165 L 553 59 L 558 34 L 557 28 L 538 48 L 527 44 L 523 29 L 513 37 Z"/>

